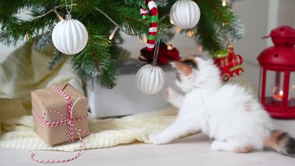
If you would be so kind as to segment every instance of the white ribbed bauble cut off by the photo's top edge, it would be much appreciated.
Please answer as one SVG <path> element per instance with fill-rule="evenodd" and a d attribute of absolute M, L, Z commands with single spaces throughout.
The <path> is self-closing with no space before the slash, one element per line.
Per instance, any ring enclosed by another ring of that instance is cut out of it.
<path fill-rule="evenodd" d="M 192 0 L 178 0 L 170 10 L 173 24 L 183 30 L 193 28 L 200 19 L 200 8 Z"/>

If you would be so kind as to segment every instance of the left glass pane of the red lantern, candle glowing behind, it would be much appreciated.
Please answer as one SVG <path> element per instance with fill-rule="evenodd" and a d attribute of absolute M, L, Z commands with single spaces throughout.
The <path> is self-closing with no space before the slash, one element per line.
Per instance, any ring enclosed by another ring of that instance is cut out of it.
<path fill-rule="evenodd" d="M 267 70 L 265 86 L 265 104 L 281 105 L 283 99 L 284 73 Z"/>

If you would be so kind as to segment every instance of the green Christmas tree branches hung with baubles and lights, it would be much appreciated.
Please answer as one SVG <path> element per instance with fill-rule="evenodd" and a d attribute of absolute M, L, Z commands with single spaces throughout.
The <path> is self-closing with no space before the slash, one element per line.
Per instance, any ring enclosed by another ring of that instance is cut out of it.
<path fill-rule="evenodd" d="M 199 6 L 200 19 L 197 26 L 187 30 L 171 23 L 170 9 L 177 0 L 154 1 L 159 13 L 157 41 L 169 42 L 175 33 L 183 33 L 196 41 L 196 47 L 213 52 L 223 49 L 225 41 L 234 42 L 244 35 L 244 25 L 231 10 L 235 0 L 193 0 Z M 44 50 L 52 45 L 54 25 L 66 17 L 66 4 L 70 5 L 71 0 L 0 0 L 0 42 L 16 46 L 36 37 L 37 48 Z M 72 0 L 71 16 L 81 21 L 88 32 L 86 47 L 72 55 L 73 67 L 82 79 L 93 78 L 105 88 L 115 86 L 116 59 L 123 51 L 120 32 L 139 38 L 148 36 L 150 22 L 140 14 L 142 4 L 144 0 Z M 29 11 L 32 18 L 16 17 L 23 11 Z M 65 56 L 55 50 L 48 68 L 54 68 Z"/>

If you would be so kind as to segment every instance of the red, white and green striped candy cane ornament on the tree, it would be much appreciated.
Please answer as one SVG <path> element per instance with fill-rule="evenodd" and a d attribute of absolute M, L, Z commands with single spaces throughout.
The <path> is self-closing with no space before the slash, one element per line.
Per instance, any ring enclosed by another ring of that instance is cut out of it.
<path fill-rule="evenodd" d="M 148 15 L 148 10 L 150 11 L 150 16 Z M 154 1 L 145 0 L 144 4 L 141 5 L 140 14 L 143 19 L 149 19 L 150 25 L 148 29 L 148 42 L 147 50 L 151 51 L 155 47 L 156 34 L 158 29 L 158 8 Z"/>

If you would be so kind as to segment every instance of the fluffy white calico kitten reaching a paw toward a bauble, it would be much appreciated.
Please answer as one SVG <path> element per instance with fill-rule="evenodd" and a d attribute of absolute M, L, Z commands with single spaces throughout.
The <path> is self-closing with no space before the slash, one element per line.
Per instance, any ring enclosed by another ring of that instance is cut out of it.
<path fill-rule="evenodd" d="M 216 151 L 244 153 L 267 147 L 295 154 L 295 139 L 275 129 L 270 116 L 245 87 L 222 85 L 212 60 L 189 57 L 172 66 L 177 68 L 176 84 L 185 95 L 166 89 L 166 100 L 180 111 L 162 133 L 149 135 L 153 144 L 166 144 L 201 130 L 214 138 L 211 148 Z"/>

